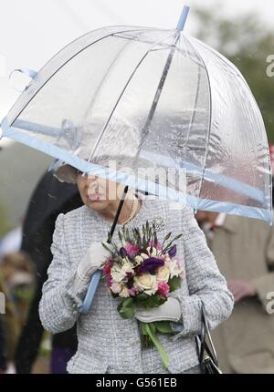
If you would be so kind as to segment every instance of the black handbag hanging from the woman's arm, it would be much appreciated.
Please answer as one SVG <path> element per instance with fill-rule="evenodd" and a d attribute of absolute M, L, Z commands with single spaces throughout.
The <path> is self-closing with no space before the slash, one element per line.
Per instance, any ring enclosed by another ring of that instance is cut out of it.
<path fill-rule="evenodd" d="M 222 374 L 221 369 L 218 367 L 218 361 L 216 356 L 216 349 L 213 345 L 211 335 L 209 333 L 206 316 L 205 316 L 205 305 L 202 304 L 201 309 L 202 316 L 202 331 L 201 335 L 195 336 L 195 342 L 197 347 L 197 354 L 199 357 L 200 369 L 203 374 Z M 206 338 L 209 342 L 210 347 L 206 343 Z"/>

